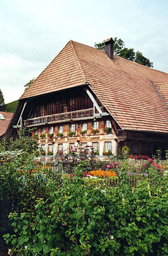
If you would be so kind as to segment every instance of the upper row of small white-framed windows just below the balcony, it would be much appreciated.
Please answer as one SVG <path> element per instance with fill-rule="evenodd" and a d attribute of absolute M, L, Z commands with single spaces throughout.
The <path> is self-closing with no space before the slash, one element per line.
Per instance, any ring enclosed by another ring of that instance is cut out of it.
<path fill-rule="evenodd" d="M 105 127 L 112 128 L 112 124 L 111 124 L 110 120 L 107 120 L 105 122 Z M 99 122 L 98 121 L 93 122 L 93 129 L 95 129 L 95 130 L 99 129 Z M 70 125 L 70 131 L 75 132 L 75 124 Z M 82 124 L 82 131 L 87 131 L 87 123 Z M 36 129 L 35 134 L 38 134 L 38 132 L 39 132 L 39 130 Z M 53 126 L 49 127 L 49 134 L 52 134 L 53 132 L 54 132 L 54 127 Z M 63 133 L 63 125 L 60 125 L 59 132 Z M 42 134 L 45 134 L 45 133 L 46 133 L 46 127 L 43 127 L 42 128 Z"/>

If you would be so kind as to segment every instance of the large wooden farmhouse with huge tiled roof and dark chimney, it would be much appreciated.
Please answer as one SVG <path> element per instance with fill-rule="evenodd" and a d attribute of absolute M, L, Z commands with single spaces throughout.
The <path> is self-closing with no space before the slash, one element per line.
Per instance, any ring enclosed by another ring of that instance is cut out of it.
<path fill-rule="evenodd" d="M 34 128 L 47 152 L 92 146 L 103 155 L 168 149 L 168 74 L 69 41 L 22 97 L 8 132 Z"/>

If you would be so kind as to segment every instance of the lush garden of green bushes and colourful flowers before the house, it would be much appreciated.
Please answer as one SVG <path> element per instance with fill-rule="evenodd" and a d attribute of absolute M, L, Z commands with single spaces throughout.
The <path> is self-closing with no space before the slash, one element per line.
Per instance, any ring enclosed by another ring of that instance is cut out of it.
<path fill-rule="evenodd" d="M 0 255 L 168 255 L 167 155 L 38 154 L 1 142 Z"/>

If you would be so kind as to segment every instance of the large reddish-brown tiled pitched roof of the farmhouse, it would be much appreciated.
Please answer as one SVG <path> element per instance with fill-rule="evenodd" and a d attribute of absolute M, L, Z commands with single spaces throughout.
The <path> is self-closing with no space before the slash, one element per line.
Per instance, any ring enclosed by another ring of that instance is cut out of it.
<path fill-rule="evenodd" d="M 168 132 L 168 74 L 69 41 L 20 99 L 89 83 L 122 129 Z M 160 95 L 162 97 L 160 97 Z"/>

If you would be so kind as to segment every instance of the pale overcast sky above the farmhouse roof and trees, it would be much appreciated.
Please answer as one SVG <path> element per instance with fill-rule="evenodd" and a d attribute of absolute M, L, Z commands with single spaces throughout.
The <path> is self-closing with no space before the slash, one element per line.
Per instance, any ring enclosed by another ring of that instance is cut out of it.
<path fill-rule="evenodd" d="M 94 46 L 121 38 L 155 69 L 168 73 L 167 0 L 0 0 L 0 89 L 6 103 L 22 96 L 72 39 Z"/>

